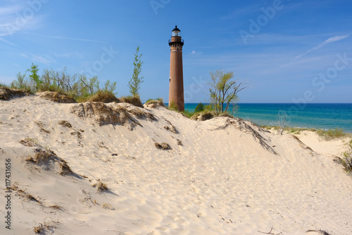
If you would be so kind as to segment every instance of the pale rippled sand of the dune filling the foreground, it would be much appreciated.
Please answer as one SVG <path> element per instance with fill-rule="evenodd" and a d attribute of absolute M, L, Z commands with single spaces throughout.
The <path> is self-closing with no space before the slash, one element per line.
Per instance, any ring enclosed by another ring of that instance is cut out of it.
<path fill-rule="evenodd" d="M 9 231 L 1 190 L 0 234 L 34 234 L 33 227 L 44 222 L 54 225 L 46 234 L 318 234 L 308 229 L 352 234 L 352 178 L 333 162 L 346 140 L 298 135 L 313 152 L 291 135 L 258 131 L 246 122 L 275 146 L 275 155 L 239 130 L 239 123 L 225 127 L 225 117 L 191 121 L 163 107 L 148 108 L 158 121 L 130 113 L 142 125 L 130 131 L 129 125 L 80 119 L 70 113 L 75 105 L 34 95 L 0 100 L 1 188 L 10 158 L 11 181 L 42 203 L 13 191 Z M 73 127 L 59 125 L 62 120 Z M 179 133 L 164 128 L 169 122 Z M 34 138 L 87 178 L 27 163 L 35 147 L 19 143 L 25 138 Z M 158 150 L 155 142 L 172 150 Z M 108 192 L 92 187 L 98 179 Z"/>

